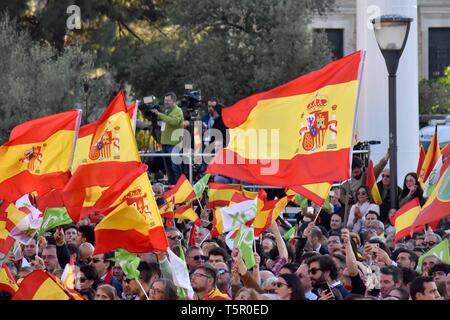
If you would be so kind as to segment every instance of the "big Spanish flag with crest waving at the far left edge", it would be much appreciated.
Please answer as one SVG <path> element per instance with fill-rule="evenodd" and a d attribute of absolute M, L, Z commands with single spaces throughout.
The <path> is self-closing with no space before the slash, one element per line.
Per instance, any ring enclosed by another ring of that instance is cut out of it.
<path fill-rule="evenodd" d="M 69 180 L 80 110 L 34 119 L 15 127 L 0 147 L 0 199 L 62 189 Z"/>

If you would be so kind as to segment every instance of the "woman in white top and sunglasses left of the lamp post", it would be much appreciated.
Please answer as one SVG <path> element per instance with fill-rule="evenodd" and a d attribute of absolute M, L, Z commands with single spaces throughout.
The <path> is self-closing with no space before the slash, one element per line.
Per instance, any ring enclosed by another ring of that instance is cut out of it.
<path fill-rule="evenodd" d="M 359 233 L 364 226 L 364 217 L 369 211 L 380 213 L 380 207 L 372 202 L 369 189 L 361 186 L 357 189 L 355 198 L 356 203 L 350 208 L 347 228 L 351 232 Z"/>

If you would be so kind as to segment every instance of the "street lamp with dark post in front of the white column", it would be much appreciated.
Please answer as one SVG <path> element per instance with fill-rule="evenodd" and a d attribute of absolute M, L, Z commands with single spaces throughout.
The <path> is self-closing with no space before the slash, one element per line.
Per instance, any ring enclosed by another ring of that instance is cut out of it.
<path fill-rule="evenodd" d="M 382 15 L 372 20 L 375 38 L 389 73 L 389 150 L 391 167 L 391 208 L 398 207 L 397 192 L 397 68 L 408 39 L 411 18 Z"/>

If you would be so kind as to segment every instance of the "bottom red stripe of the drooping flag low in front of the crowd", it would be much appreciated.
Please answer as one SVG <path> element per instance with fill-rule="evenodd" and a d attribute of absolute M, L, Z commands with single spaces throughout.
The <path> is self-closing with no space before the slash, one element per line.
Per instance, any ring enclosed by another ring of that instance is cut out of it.
<path fill-rule="evenodd" d="M 132 253 L 146 253 L 150 251 L 167 251 L 168 242 L 163 227 L 150 229 L 149 235 L 144 236 L 136 230 L 96 230 L 95 254 L 125 249 Z"/>

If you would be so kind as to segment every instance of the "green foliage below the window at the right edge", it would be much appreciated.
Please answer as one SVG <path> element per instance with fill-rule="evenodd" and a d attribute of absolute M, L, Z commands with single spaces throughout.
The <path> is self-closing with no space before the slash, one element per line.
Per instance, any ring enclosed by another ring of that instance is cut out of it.
<path fill-rule="evenodd" d="M 450 67 L 437 80 L 420 81 L 419 110 L 420 114 L 450 113 Z"/>

